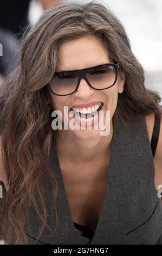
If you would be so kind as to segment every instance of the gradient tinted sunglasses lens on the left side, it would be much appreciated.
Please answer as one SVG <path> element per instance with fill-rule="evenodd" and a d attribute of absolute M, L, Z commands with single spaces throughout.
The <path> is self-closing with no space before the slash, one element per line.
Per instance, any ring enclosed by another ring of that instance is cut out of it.
<path fill-rule="evenodd" d="M 77 86 L 78 76 L 75 72 L 56 72 L 50 81 L 54 93 L 65 95 L 73 93 Z"/>

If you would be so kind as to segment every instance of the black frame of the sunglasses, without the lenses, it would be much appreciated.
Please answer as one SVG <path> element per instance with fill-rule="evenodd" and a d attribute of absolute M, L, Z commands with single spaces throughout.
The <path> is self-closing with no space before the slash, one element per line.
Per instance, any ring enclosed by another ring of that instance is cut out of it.
<path fill-rule="evenodd" d="M 93 69 L 93 68 L 98 68 L 99 66 L 114 66 L 114 68 L 115 68 L 115 81 L 114 81 L 114 83 L 112 84 L 112 86 L 109 86 L 109 87 L 106 87 L 106 88 L 103 88 L 103 89 L 96 89 L 96 88 L 94 88 L 94 87 L 89 83 L 89 81 L 88 81 L 88 79 L 87 79 L 87 77 L 86 77 L 86 71 L 87 71 L 87 70 L 90 70 L 90 69 Z M 120 69 L 120 66 L 119 66 L 118 63 L 106 63 L 106 64 L 97 65 L 97 66 L 92 66 L 92 67 L 86 68 L 86 69 L 76 69 L 76 70 L 56 71 L 56 72 L 54 72 L 54 75 L 61 75 L 61 74 L 63 74 L 64 72 L 66 72 L 66 73 L 69 72 L 69 74 L 70 74 L 70 72 L 76 72 L 76 74 L 77 74 L 77 76 L 78 76 L 77 86 L 76 86 L 75 90 L 74 90 L 72 93 L 69 93 L 69 94 L 57 94 L 57 93 L 54 93 L 53 90 L 52 90 L 51 87 L 50 87 L 50 83 L 48 83 L 47 86 L 48 86 L 48 88 L 49 88 L 49 90 L 50 90 L 51 93 L 53 93 L 53 94 L 55 94 L 55 95 L 57 95 L 57 96 L 67 96 L 67 95 L 71 95 L 71 94 L 73 94 L 73 93 L 76 92 L 76 90 L 79 88 L 80 81 L 81 81 L 81 79 L 83 78 L 83 79 L 87 82 L 87 84 L 88 84 L 88 86 L 89 86 L 90 88 L 95 89 L 95 90 L 105 90 L 105 89 L 108 89 L 108 88 L 113 87 L 114 84 L 116 83 L 116 81 L 117 81 L 117 79 L 118 79 L 118 69 Z M 53 76 L 54 76 L 54 75 L 53 75 Z"/>

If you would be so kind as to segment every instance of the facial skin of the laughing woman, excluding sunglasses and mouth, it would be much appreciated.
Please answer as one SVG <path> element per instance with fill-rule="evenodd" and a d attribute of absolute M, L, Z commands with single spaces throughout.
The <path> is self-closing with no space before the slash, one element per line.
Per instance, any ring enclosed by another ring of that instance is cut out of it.
<path fill-rule="evenodd" d="M 57 70 L 84 69 L 91 66 L 111 62 L 105 47 L 93 36 L 83 36 L 72 41 L 63 42 L 59 48 L 59 64 Z M 101 101 L 104 103 L 104 110 L 109 110 L 111 115 L 110 133 L 107 136 L 100 136 L 98 130 L 57 130 L 57 150 L 60 156 L 76 164 L 94 164 L 109 154 L 113 125 L 112 117 L 118 101 L 118 93 L 124 90 L 125 74 L 118 73 L 118 80 L 115 85 L 106 90 L 95 90 L 88 86 L 85 80 L 80 81 L 78 90 L 68 96 L 57 96 L 51 93 L 53 108 L 62 112 L 64 106 L 72 107 L 76 104 Z M 69 120 L 72 118 L 69 118 Z"/>

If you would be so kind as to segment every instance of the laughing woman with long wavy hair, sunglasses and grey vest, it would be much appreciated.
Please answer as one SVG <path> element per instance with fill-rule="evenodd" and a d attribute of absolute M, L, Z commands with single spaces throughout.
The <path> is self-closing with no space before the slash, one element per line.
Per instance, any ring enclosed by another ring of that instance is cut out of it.
<path fill-rule="evenodd" d="M 1 239 L 162 243 L 160 96 L 144 80 L 124 28 L 102 4 L 67 3 L 41 16 L 1 89 Z M 67 117 L 64 106 L 76 116 L 67 124 L 84 130 L 55 129 L 52 113 Z M 105 136 L 94 129 L 97 110 L 106 125 L 109 113 Z"/>

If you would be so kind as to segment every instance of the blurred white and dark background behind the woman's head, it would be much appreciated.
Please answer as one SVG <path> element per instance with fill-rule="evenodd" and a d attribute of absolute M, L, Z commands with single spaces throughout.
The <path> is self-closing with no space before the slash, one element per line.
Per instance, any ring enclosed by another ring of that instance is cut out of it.
<path fill-rule="evenodd" d="M 1 0 L 0 3 L 0 83 L 14 69 L 14 59 L 25 26 L 33 26 L 51 4 L 68 0 Z M 90 2 L 74 0 L 73 2 Z M 132 50 L 145 69 L 145 86 L 162 97 L 162 1 L 98 0 L 111 8 L 125 26 Z M 5 68 L 4 68 L 5 67 Z M 162 102 L 161 102 L 162 103 Z"/>

